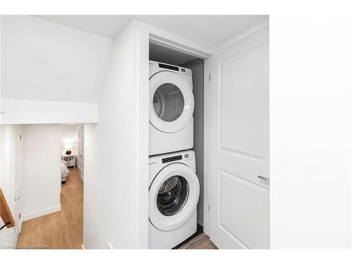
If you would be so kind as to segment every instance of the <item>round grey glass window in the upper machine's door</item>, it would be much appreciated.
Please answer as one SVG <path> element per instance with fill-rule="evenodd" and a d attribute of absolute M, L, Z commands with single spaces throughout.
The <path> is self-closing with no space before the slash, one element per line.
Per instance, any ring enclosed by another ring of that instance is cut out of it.
<path fill-rule="evenodd" d="M 165 122 L 180 118 L 184 109 L 184 98 L 181 90 L 170 82 L 161 84 L 153 96 L 153 107 L 156 115 Z"/>

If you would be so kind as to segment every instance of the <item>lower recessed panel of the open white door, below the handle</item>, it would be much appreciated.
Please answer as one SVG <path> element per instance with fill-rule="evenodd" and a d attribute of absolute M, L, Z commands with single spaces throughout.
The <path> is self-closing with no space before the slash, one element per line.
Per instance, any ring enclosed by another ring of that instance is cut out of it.
<path fill-rule="evenodd" d="M 248 249 L 260 249 L 268 239 L 268 189 L 219 170 L 220 227 Z M 232 201 L 225 199 L 229 193 Z M 242 192 L 242 193 L 241 193 Z M 234 220 L 228 215 L 234 215 Z M 267 245 L 268 246 L 268 245 Z"/>

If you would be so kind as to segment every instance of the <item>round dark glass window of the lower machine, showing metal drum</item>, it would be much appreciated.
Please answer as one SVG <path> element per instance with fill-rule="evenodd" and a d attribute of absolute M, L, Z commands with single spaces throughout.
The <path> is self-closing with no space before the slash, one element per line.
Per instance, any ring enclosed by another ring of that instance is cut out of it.
<path fill-rule="evenodd" d="M 160 213 L 175 215 L 183 208 L 189 195 L 189 185 L 184 177 L 177 175 L 168 178 L 161 185 L 156 204 Z"/>

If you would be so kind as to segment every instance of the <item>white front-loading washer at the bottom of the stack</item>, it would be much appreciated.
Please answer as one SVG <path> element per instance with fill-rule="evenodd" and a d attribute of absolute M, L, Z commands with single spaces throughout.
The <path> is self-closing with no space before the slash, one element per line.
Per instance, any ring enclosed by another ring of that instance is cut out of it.
<path fill-rule="evenodd" d="M 149 249 L 172 249 L 196 232 L 194 151 L 149 158 Z"/>

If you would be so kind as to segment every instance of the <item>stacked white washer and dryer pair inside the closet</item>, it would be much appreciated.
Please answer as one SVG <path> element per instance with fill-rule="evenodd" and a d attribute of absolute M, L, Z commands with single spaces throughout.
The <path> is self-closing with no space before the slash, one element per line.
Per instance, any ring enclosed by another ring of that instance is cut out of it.
<path fill-rule="evenodd" d="M 197 225 L 191 70 L 149 61 L 149 96 L 149 248 L 172 249 Z"/>

